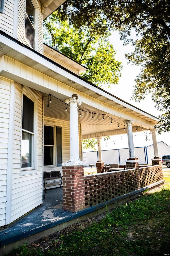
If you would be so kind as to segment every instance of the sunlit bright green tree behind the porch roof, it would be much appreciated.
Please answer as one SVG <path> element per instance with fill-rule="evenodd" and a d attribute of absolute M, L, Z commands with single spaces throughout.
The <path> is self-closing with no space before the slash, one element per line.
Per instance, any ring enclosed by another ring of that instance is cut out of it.
<path fill-rule="evenodd" d="M 121 62 L 115 60 L 116 51 L 109 43 L 108 30 L 103 35 L 88 27 L 75 28 L 68 20 L 61 20 L 58 11 L 44 21 L 44 40 L 61 53 L 84 65 L 87 71 L 80 74 L 97 86 L 118 84 Z"/>

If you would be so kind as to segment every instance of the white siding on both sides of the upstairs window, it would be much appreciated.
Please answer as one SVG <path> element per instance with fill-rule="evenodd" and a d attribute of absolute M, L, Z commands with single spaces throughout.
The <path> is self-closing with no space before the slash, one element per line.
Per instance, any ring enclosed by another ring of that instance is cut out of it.
<path fill-rule="evenodd" d="M 35 22 L 38 22 L 36 24 L 37 33 L 35 31 L 35 36 L 38 35 L 35 41 L 35 50 L 39 51 L 41 54 L 43 54 L 43 18 L 41 13 L 41 5 L 39 1 L 32 1 L 33 6 L 38 11 L 38 17 L 35 20 Z M 27 39 L 25 38 L 25 1 L 18 0 L 18 40 L 26 45 L 29 45 Z"/>

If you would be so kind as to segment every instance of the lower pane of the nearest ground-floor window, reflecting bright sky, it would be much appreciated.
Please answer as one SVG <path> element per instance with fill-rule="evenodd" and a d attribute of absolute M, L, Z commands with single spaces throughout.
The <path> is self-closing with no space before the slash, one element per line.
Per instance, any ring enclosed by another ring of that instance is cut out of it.
<path fill-rule="evenodd" d="M 32 134 L 22 132 L 21 156 L 22 168 L 32 167 Z"/>

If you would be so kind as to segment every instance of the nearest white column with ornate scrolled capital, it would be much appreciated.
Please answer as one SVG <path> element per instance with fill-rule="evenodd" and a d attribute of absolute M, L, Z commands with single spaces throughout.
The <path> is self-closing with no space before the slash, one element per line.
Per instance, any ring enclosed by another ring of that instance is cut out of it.
<path fill-rule="evenodd" d="M 70 104 L 70 160 L 62 165 L 83 165 L 83 161 L 79 159 L 79 130 L 78 130 L 78 106 L 82 102 L 78 100 L 77 94 L 73 94 L 72 98 L 65 101 Z"/>

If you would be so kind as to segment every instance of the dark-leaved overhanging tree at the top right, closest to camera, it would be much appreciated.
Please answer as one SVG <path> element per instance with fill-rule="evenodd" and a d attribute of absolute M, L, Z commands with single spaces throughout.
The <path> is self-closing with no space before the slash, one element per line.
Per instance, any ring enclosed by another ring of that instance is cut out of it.
<path fill-rule="evenodd" d="M 62 20 L 75 28 L 88 27 L 89 34 L 103 36 L 118 30 L 124 45 L 132 43 L 134 52 L 126 57 L 141 64 L 132 98 L 137 102 L 151 93 L 162 111 L 158 132 L 170 131 L 170 4 L 168 0 L 69 0 L 58 10 Z M 137 40 L 130 38 L 135 30 Z"/>

